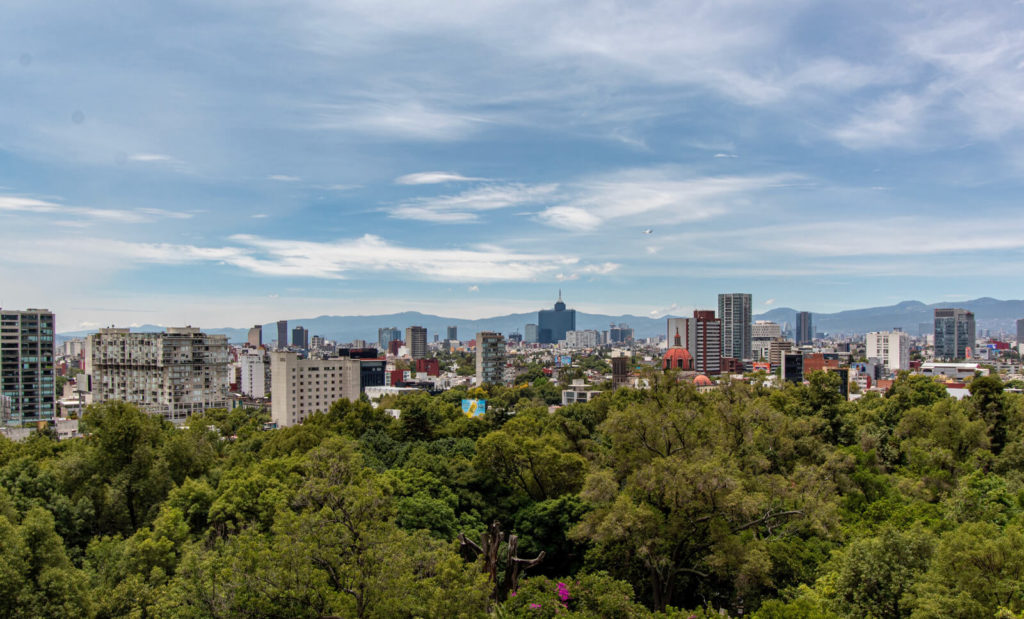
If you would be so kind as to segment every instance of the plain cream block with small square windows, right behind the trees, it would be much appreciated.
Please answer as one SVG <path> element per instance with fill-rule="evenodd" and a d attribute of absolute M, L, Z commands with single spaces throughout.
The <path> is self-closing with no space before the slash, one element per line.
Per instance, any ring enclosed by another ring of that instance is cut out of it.
<path fill-rule="evenodd" d="M 270 419 L 278 427 L 296 425 L 327 412 L 347 398 L 359 398 L 358 359 L 299 359 L 297 353 L 270 354 Z"/>

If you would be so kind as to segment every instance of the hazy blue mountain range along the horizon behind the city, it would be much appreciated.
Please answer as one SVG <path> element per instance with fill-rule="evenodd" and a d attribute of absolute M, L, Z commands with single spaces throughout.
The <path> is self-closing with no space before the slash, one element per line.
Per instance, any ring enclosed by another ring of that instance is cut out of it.
<path fill-rule="evenodd" d="M 921 324 L 929 325 L 931 329 L 935 307 L 964 307 L 975 314 L 979 329 L 990 329 L 993 333 L 999 331 L 1015 332 L 1014 322 L 1024 318 L 1024 300 L 998 300 L 989 297 L 971 301 L 933 303 L 926 305 L 921 301 L 903 301 L 884 307 L 867 307 L 864 310 L 847 310 L 836 314 L 812 313 L 814 330 L 830 334 L 860 334 L 868 331 L 884 331 L 894 327 L 903 329 L 911 335 L 918 335 Z M 779 324 L 788 323 L 792 328 L 796 322 L 797 311 L 792 307 L 776 307 L 754 317 L 754 320 L 770 320 Z M 610 324 L 626 323 L 633 327 L 637 337 L 652 337 L 665 333 L 665 320 L 671 317 L 647 318 L 642 316 L 608 316 L 605 314 L 585 314 L 577 312 L 577 329 L 597 329 L 603 331 Z M 406 327 L 419 325 L 427 328 L 427 337 L 431 341 L 434 334 L 444 337 L 445 328 L 456 326 L 461 339 L 472 339 L 478 331 L 498 331 L 500 333 L 523 332 L 527 323 L 537 322 L 537 313 L 509 314 L 479 320 L 446 318 L 419 312 L 403 312 L 401 314 L 384 314 L 376 316 L 317 316 L 316 318 L 290 319 L 288 321 L 288 337 L 291 330 L 299 325 L 309 329 L 310 335 L 322 335 L 328 339 L 347 342 L 353 339 L 365 339 L 368 342 L 377 341 L 377 329 L 380 327 L 397 327 L 404 332 Z M 163 331 L 163 327 L 143 325 L 133 327 L 132 331 Z M 204 328 L 207 333 L 227 335 L 232 342 L 244 342 L 249 329 L 232 327 Z M 92 331 L 74 331 L 61 333 L 62 337 L 82 337 Z M 263 341 L 269 342 L 278 337 L 276 323 L 263 325 Z"/>

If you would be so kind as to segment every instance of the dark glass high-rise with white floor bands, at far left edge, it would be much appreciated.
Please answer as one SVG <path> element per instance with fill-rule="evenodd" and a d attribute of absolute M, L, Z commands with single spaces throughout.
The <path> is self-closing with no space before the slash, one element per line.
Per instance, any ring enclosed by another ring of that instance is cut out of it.
<path fill-rule="evenodd" d="M 53 313 L 0 311 L 0 396 L 9 410 L 4 425 L 53 419 Z"/>

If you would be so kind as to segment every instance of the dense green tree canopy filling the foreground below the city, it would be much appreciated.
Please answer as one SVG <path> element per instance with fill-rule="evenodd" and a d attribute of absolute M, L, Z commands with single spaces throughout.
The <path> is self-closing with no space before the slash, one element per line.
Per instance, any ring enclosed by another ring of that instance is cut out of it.
<path fill-rule="evenodd" d="M 543 376 L 339 401 L 275 430 L 92 406 L 83 438 L 0 440 L 0 615 L 1024 617 L 1024 398 L 997 378 L 856 402 L 826 373 L 651 379 L 551 412 Z M 517 586 L 457 541 L 496 522 L 545 553 Z"/>

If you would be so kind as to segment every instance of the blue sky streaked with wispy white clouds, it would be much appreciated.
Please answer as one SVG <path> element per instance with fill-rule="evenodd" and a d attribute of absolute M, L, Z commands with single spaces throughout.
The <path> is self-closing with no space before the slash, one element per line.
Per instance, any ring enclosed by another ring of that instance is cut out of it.
<path fill-rule="evenodd" d="M 1024 3 L 4 0 L 58 331 L 1021 298 Z"/>

